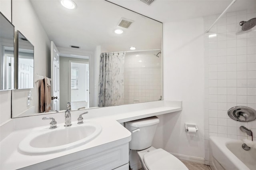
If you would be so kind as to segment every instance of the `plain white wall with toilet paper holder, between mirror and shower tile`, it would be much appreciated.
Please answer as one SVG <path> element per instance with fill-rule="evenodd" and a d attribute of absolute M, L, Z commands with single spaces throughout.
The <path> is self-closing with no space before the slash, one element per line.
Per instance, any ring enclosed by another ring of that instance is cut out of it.
<path fill-rule="evenodd" d="M 204 158 L 203 18 L 163 24 L 164 100 L 182 101 L 182 111 L 162 115 L 154 145 L 168 152 Z M 184 123 L 196 123 L 187 136 Z"/>

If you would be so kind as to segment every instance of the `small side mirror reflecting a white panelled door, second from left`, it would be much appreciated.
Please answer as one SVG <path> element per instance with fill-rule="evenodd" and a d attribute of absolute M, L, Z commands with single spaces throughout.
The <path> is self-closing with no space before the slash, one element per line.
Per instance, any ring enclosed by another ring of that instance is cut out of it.
<path fill-rule="evenodd" d="M 17 34 L 18 89 L 34 88 L 34 46 L 21 34 Z"/>

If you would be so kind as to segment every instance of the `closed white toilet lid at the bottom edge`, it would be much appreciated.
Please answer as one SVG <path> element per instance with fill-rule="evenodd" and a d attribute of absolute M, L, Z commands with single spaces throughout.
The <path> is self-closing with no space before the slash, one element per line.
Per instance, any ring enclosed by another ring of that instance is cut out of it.
<path fill-rule="evenodd" d="M 149 170 L 188 170 L 178 158 L 161 148 L 145 154 L 144 162 Z"/>

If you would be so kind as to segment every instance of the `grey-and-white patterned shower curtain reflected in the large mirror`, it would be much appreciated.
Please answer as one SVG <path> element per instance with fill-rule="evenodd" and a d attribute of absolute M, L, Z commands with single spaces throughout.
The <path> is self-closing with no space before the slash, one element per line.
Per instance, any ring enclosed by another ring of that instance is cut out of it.
<path fill-rule="evenodd" d="M 100 54 L 98 107 L 124 104 L 124 55 Z"/>

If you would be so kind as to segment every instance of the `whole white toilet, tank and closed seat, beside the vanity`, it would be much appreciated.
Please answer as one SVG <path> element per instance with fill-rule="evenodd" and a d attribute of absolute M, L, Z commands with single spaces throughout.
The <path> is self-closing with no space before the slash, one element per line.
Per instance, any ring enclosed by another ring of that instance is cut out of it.
<path fill-rule="evenodd" d="M 151 146 L 158 123 L 159 119 L 155 116 L 125 123 L 125 127 L 132 133 L 129 148 L 137 150 L 142 170 L 188 170 L 169 152 Z"/>

